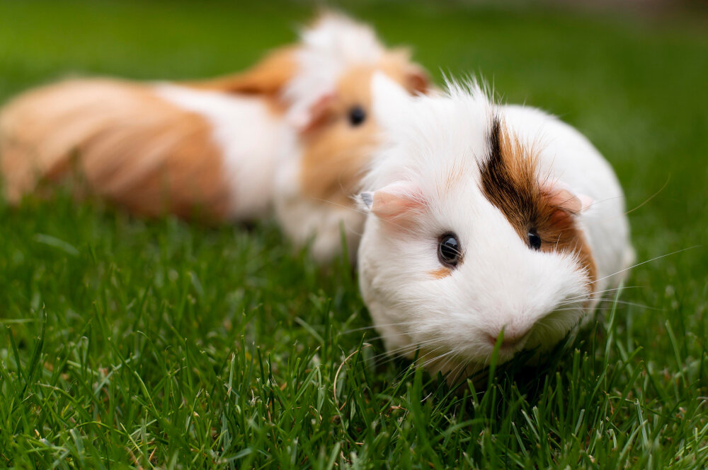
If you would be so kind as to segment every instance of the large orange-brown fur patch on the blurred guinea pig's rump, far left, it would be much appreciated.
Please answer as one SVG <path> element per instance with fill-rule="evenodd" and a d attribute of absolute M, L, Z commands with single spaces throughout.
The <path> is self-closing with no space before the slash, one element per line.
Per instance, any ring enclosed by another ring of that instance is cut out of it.
<path fill-rule="evenodd" d="M 72 167 L 130 211 L 224 218 L 229 188 L 210 124 L 137 83 L 76 80 L 21 95 L 0 118 L 10 201 Z"/>

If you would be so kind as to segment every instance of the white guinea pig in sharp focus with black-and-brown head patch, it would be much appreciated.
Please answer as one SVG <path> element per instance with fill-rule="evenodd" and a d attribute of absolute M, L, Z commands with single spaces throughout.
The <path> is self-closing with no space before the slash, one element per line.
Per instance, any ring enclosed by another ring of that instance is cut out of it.
<path fill-rule="evenodd" d="M 542 111 L 475 83 L 411 98 L 374 79 L 385 141 L 358 195 L 360 288 L 392 354 L 448 380 L 587 322 L 632 262 L 607 161 Z"/>

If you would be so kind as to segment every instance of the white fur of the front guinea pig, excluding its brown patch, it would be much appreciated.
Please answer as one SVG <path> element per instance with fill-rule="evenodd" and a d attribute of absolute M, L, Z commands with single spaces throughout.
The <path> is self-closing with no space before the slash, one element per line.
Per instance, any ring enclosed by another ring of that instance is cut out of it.
<path fill-rule="evenodd" d="M 398 228 L 370 213 L 358 260 L 363 298 L 389 352 L 412 356 L 420 347 L 433 372 L 459 373 L 487 363 L 490 338 L 502 329 L 506 336 L 530 333 L 503 348 L 500 360 L 521 348 L 553 346 L 597 298 L 581 301 L 590 288 L 572 254 L 527 247 L 481 191 L 493 113 L 523 142 L 537 144 L 539 177 L 549 175 L 595 200 L 577 217 L 597 264 L 596 291 L 616 286 L 622 276 L 610 275 L 632 256 L 622 189 L 610 165 L 568 125 L 539 110 L 496 107 L 474 84 L 469 90 L 449 86 L 446 96 L 435 98 L 409 98 L 395 87 L 375 78 L 375 112 L 388 145 L 364 189 L 405 181 L 418 188 L 414 199 L 425 206 L 407 216 L 412 223 L 404 214 Z M 457 175 L 450 189 L 448 175 Z M 458 235 L 464 258 L 450 276 L 436 278 L 430 273 L 441 267 L 438 238 L 448 231 Z"/>

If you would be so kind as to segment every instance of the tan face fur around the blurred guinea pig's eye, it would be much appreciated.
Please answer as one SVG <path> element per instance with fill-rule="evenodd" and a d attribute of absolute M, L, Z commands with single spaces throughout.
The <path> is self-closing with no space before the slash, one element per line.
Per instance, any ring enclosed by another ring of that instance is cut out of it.
<path fill-rule="evenodd" d="M 410 93 L 426 90 L 424 71 L 400 51 L 387 54 L 376 66 L 361 66 L 342 76 L 327 109 L 319 112 L 316 125 L 302 135 L 300 184 L 305 196 L 353 207 L 351 196 L 359 189 L 362 172 L 377 145 L 378 127 L 371 109 L 371 80 L 376 71 L 383 71 Z M 366 112 L 358 126 L 348 121 L 348 112 L 355 106 Z"/>

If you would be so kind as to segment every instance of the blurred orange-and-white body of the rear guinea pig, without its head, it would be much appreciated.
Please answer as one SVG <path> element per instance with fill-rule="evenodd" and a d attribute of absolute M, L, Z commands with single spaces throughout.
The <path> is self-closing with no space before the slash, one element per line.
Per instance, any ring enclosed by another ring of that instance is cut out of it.
<path fill-rule="evenodd" d="M 294 131 L 263 98 L 167 83 L 70 80 L 0 114 L 8 200 L 38 180 L 77 175 L 148 216 L 244 219 L 265 213 L 275 158 Z"/>

